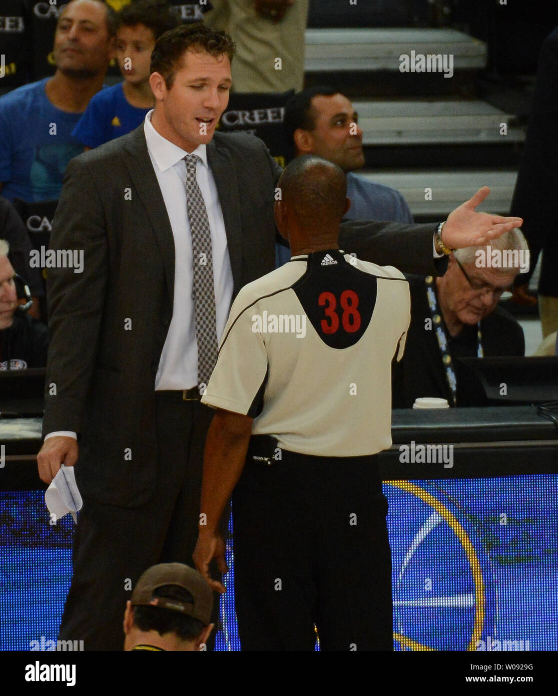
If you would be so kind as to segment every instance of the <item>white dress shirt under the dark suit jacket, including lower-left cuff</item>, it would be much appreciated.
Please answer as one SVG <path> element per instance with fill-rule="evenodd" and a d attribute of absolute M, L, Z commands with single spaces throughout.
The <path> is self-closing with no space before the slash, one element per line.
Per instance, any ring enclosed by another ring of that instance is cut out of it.
<path fill-rule="evenodd" d="M 213 282 L 215 292 L 217 342 L 221 341 L 232 301 L 232 269 L 225 233 L 223 211 L 217 187 L 207 163 L 205 145 L 188 153 L 161 136 L 151 124 L 151 110 L 145 116 L 145 141 L 170 220 L 175 240 L 175 296 L 173 319 L 155 377 L 155 390 L 189 389 L 198 385 L 198 345 L 196 342 L 196 306 L 193 302 L 192 237 L 186 209 L 186 162 L 198 155 L 196 179 L 202 192 L 212 237 Z M 56 431 L 55 435 L 77 437 L 74 432 Z"/>

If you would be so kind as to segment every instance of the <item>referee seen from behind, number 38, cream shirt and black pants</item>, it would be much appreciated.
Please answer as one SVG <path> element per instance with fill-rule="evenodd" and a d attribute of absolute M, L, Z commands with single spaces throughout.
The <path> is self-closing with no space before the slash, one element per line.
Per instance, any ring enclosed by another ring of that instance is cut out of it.
<path fill-rule="evenodd" d="M 391 557 L 376 453 L 391 445 L 391 361 L 410 319 L 392 267 L 339 249 L 342 170 L 305 155 L 280 177 L 292 259 L 235 299 L 202 402 L 198 571 L 226 571 L 218 520 L 234 489 L 243 650 L 392 650 Z"/>

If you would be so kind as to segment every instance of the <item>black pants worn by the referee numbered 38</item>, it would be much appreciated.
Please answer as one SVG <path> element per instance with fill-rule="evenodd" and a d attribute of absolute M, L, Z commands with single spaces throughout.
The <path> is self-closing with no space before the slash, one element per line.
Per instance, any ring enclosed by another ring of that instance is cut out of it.
<path fill-rule="evenodd" d="M 282 450 L 233 496 L 243 650 L 393 650 L 391 554 L 375 457 Z"/>

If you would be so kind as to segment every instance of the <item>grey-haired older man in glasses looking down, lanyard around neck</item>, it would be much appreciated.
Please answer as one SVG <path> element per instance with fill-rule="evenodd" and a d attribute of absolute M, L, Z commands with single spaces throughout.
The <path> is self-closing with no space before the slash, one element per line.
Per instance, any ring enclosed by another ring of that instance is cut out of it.
<path fill-rule="evenodd" d="M 516 228 L 491 246 L 454 251 L 444 276 L 408 276 L 411 322 L 404 357 L 393 365 L 394 408 L 411 408 L 419 397 L 459 405 L 457 358 L 525 354 L 523 329 L 498 302 L 528 263 Z"/>

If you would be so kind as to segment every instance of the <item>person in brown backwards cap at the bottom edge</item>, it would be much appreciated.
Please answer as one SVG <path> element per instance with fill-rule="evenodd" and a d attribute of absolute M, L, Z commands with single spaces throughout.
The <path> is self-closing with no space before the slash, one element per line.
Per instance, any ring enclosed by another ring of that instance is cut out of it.
<path fill-rule="evenodd" d="M 198 651 L 209 623 L 213 592 L 200 574 L 182 563 L 159 563 L 138 580 L 124 613 L 125 651 Z"/>

